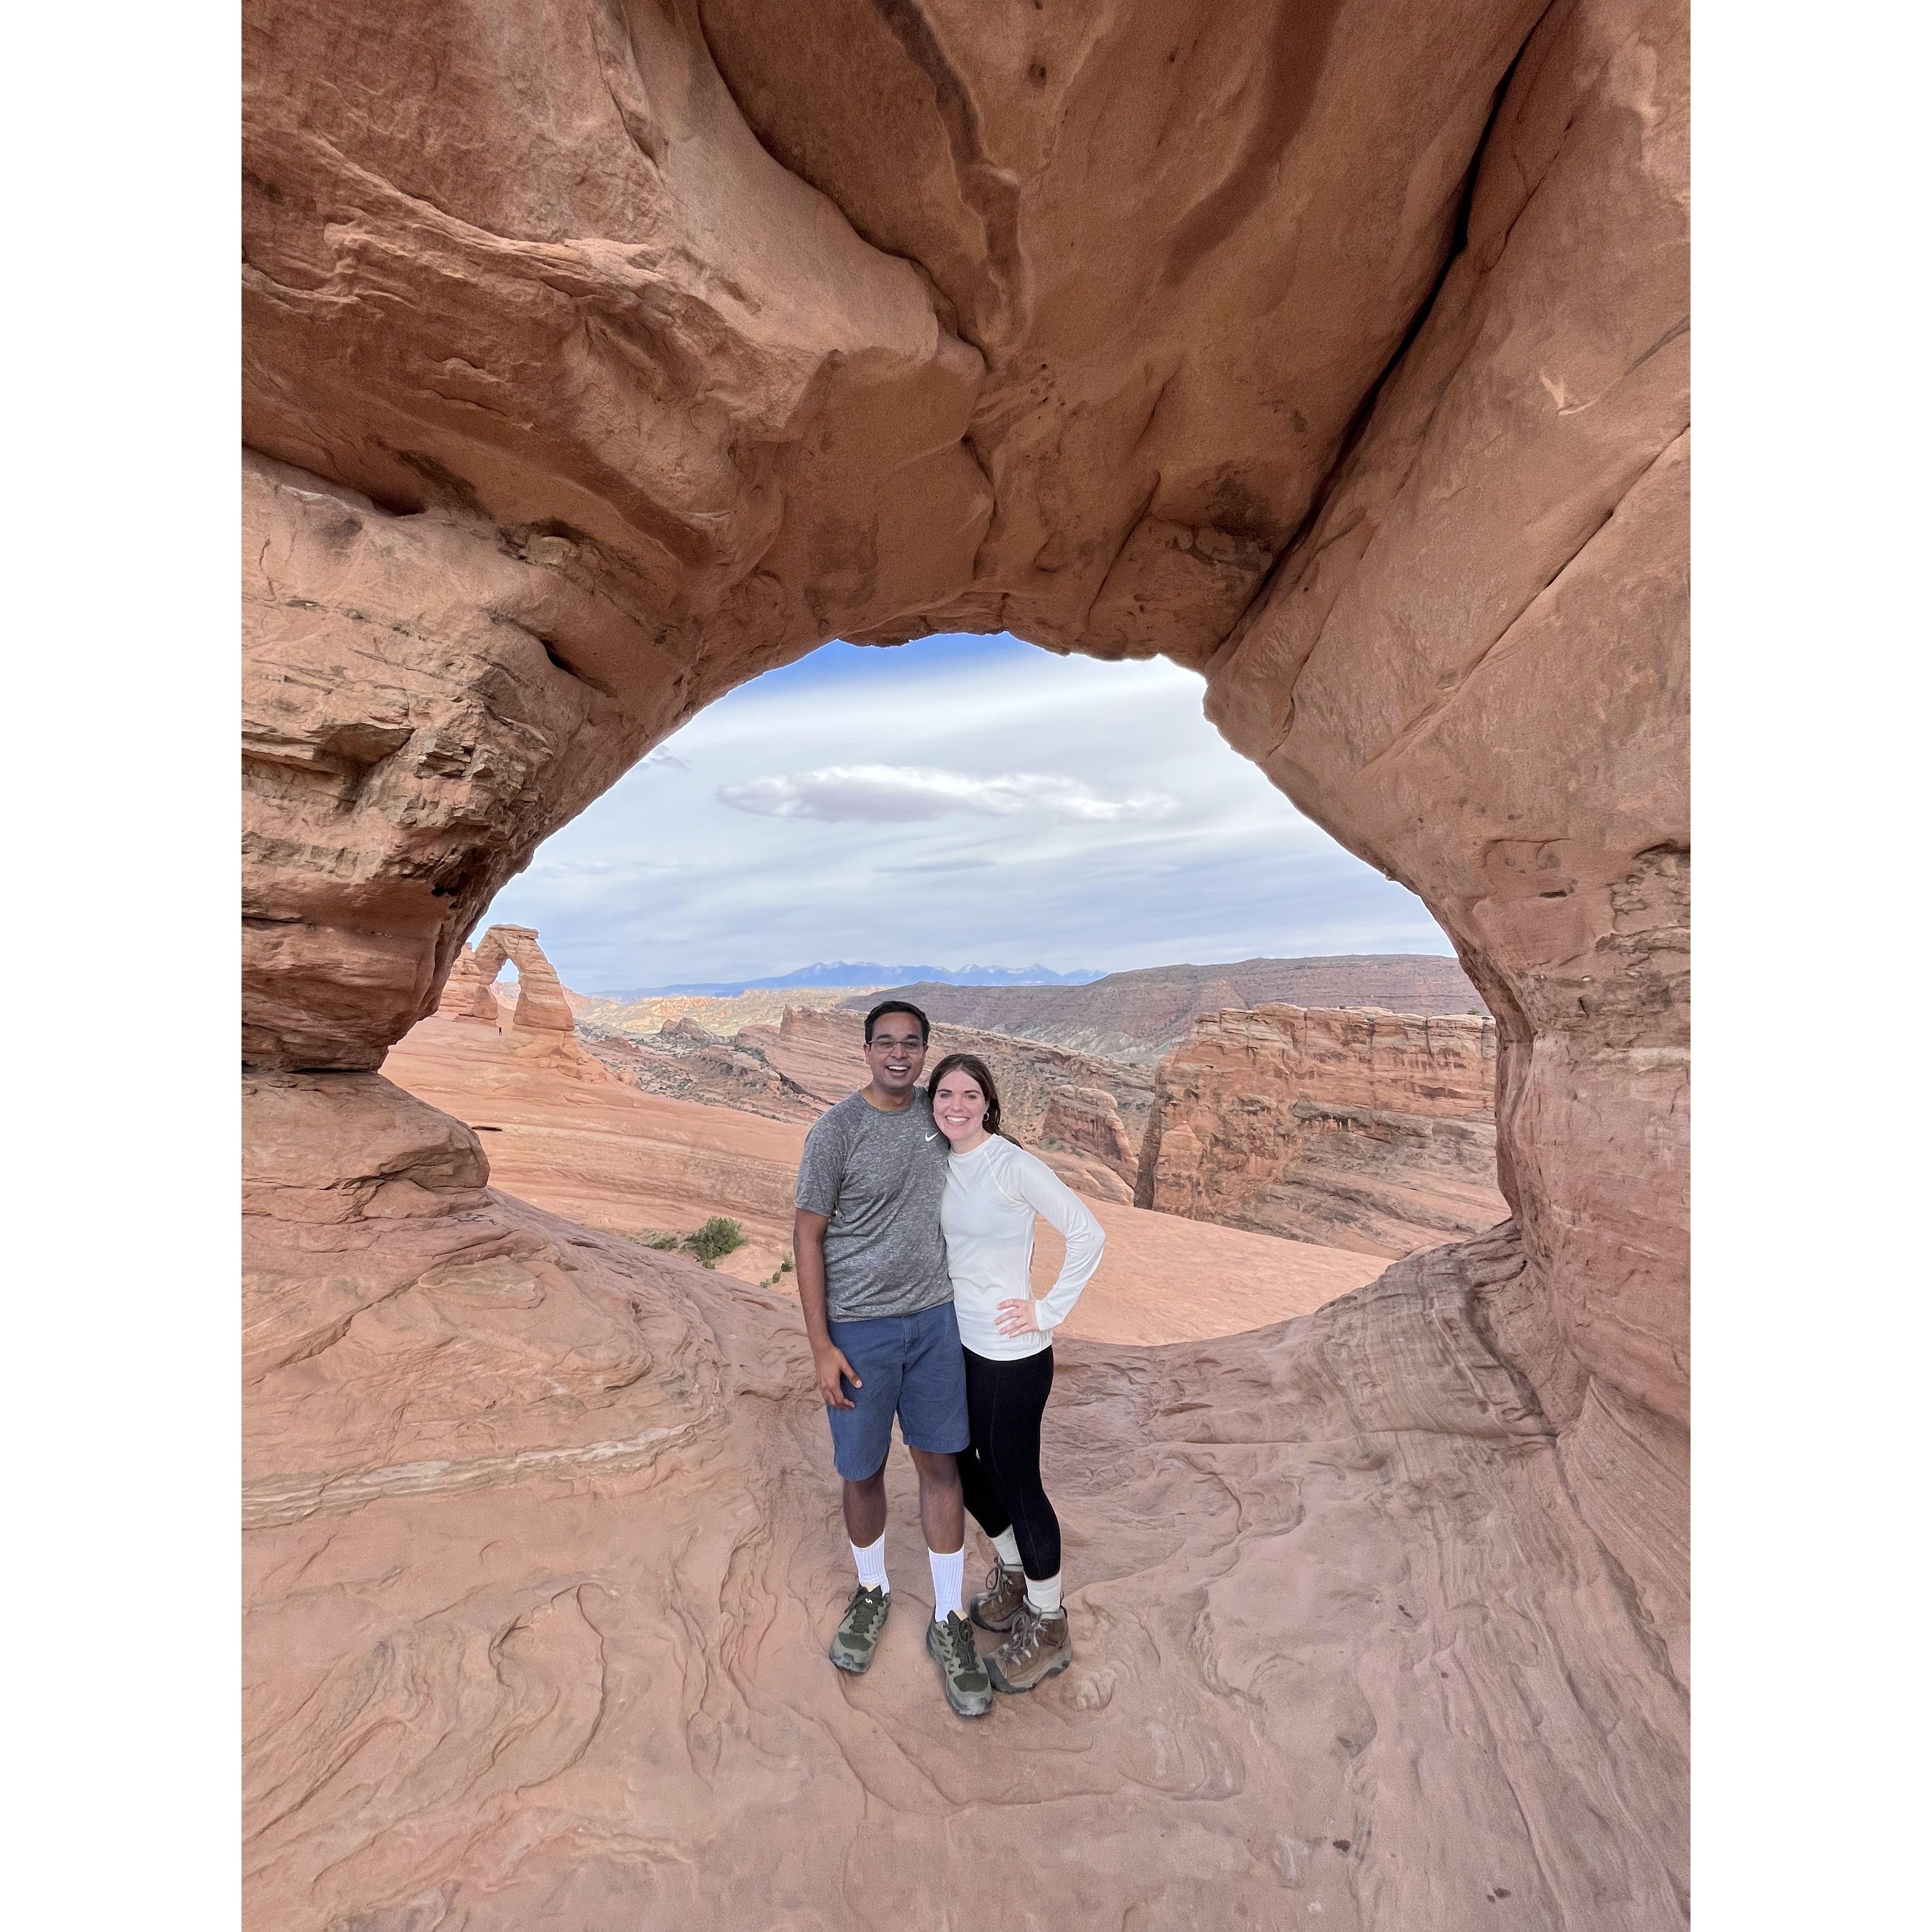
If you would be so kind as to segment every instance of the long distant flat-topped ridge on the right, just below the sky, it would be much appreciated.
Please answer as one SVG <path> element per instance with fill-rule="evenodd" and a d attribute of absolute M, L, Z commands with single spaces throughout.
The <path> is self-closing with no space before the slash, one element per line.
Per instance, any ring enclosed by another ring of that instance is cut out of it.
<path fill-rule="evenodd" d="M 1227 1007 L 1383 1007 L 1389 1012 L 1482 1012 L 1468 974 L 1432 952 L 1337 952 L 1240 960 L 1235 966 L 1146 966 L 1088 985 L 906 985 L 900 999 L 952 1026 L 993 1028 L 1076 1053 L 1151 1066 L 1204 1012 Z M 885 999 L 875 991 L 873 1001 Z M 848 999 L 848 1007 L 871 1001 Z"/>

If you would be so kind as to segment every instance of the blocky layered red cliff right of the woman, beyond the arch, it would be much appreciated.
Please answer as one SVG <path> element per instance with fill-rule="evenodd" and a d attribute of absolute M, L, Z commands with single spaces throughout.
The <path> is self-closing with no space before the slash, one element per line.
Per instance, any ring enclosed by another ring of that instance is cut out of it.
<path fill-rule="evenodd" d="M 1258 1007 L 1161 1061 L 1134 1198 L 1399 1260 L 1509 1217 L 1495 1022 Z"/>

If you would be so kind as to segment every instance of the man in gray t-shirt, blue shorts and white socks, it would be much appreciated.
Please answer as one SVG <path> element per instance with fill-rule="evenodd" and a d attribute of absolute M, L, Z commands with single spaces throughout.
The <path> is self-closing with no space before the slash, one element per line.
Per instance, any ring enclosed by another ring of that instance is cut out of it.
<path fill-rule="evenodd" d="M 896 1414 L 920 1472 L 920 1522 L 933 1571 L 925 1652 L 952 1710 L 980 1718 L 993 1706 L 993 1683 L 960 1607 L 966 1509 L 954 1459 L 970 1439 L 966 1358 L 939 1233 L 951 1150 L 918 1090 L 929 1032 L 925 1014 L 902 999 L 866 1014 L 871 1080 L 806 1136 L 792 1252 L 858 1565 L 858 1588 L 833 1636 L 833 1663 L 864 1671 L 893 1607 L 885 1457 Z"/>

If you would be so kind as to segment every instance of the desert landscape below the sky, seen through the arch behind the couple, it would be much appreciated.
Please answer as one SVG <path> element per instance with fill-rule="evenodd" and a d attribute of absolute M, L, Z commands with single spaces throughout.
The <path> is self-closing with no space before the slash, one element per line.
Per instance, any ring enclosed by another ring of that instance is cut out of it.
<path fill-rule="evenodd" d="M 781 1267 L 804 1130 L 864 1084 L 860 1022 L 887 989 L 837 987 L 811 1005 L 769 993 L 620 1005 L 560 987 L 535 933 L 514 929 L 510 945 L 522 978 L 493 991 L 466 949 L 439 1012 L 390 1051 L 388 1078 L 487 1134 L 506 1192 L 628 1238 L 723 1215 L 744 1244 L 717 1267 L 788 1291 Z M 489 970 L 512 956 L 495 929 L 479 952 Z M 1393 968 L 1430 1003 L 1463 1001 L 1464 1012 L 1200 1010 L 1153 1066 L 989 1026 L 935 1026 L 933 1061 L 980 1053 L 1012 1138 L 1090 1196 L 1109 1231 L 1105 1271 L 1076 1306 L 1072 1337 L 1169 1343 L 1262 1327 L 1362 1287 L 1416 1248 L 1509 1217 L 1493 1184 L 1495 1026 L 1466 1014 L 1474 991 L 1455 962 L 1256 964 L 1271 974 L 1252 981 L 1308 980 L 1314 966 L 1335 989 L 1370 987 Z M 1204 999 L 1227 989 L 1213 974 L 1182 976 Z M 999 1020 L 1003 995 L 1030 1014 L 1037 989 L 893 991 L 941 1007 L 949 991 L 978 993 L 978 1016 Z M 1144 1055 L 1177 1032 L 1173 999 L 1142 1016 L 1099 981 L 1086 1005 L 1119 1028 L 1142 1026 L 1146 1041 L 1119 1037 Z M 1250 1037 L 1231 1065 L 1225 1036 L 1236 1028 Z M 1306 1051 L 1310 1034 L 1325 1051 Z M 1277 1122 L 1265 1144 L 1242 1124 L 1256 1117 Z M 1455 1136 L 1449 1153 L 1443 1136 Z M 1061 1246 L 1041 1227 L 1041 1293 Z"/>

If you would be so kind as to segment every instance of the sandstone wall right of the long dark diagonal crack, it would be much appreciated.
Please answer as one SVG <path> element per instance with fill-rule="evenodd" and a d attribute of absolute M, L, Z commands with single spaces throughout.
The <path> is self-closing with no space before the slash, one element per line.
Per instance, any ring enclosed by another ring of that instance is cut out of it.
<path fill-rule="evenodd" d="M 1209 667 L 1229 742 L 1420 893 L 1499 1024 L 1551 1341 L 1689 1416 L 1689 21 L 1549 8 L 1466 242 Z M 1530 1364 L 1551 1387 L 1551 1356 Z"/>

